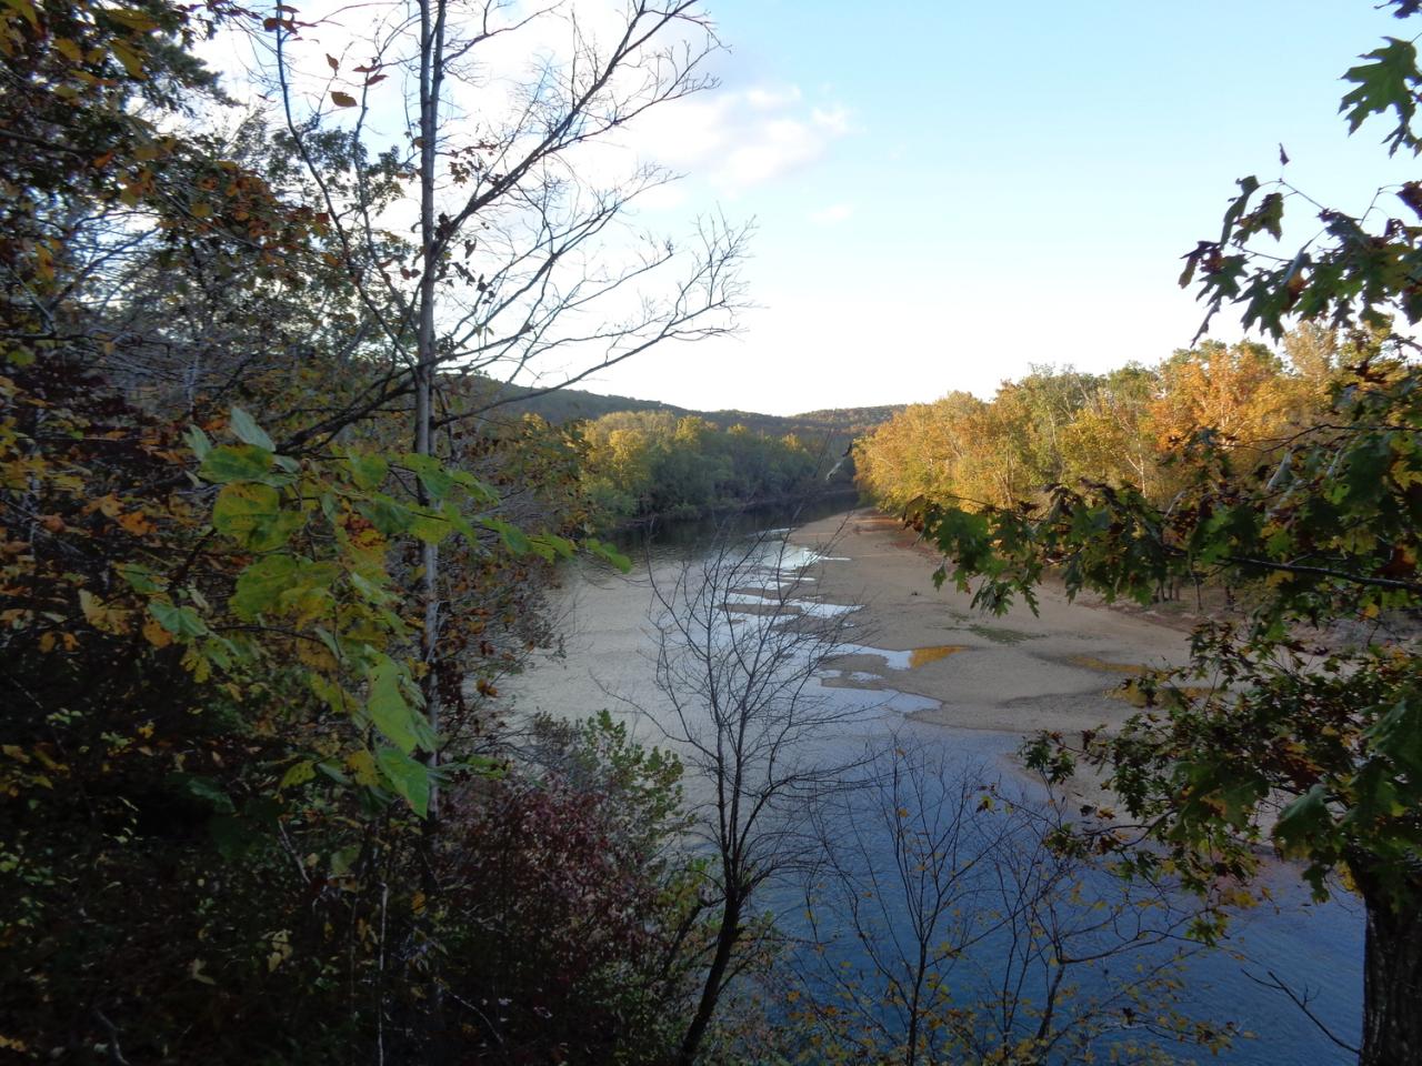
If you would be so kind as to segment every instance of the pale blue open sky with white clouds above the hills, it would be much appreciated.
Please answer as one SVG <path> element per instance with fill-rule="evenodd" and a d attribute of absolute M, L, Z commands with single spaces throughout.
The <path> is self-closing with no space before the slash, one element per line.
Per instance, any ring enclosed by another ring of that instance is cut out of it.
<path fill-rule="evenodd" d="M 1349 138 L 1338 115 L 1355 57 L 1409 28 L 1369 0 L 705 9 L 720 85 L 629 131 L 629 151 L 683 175 L 636 223 L 754 225 L 754 307 L 735 337 L 663 345 L 593 391 L 796 414 L 988 398 L 1034 364 L 1152 364 L 1203 317 L 1180 257 L 1217 236 L 1236 179 L 1280 176 L 1280 144 L 1290 182 L 1342 210 L 1412 176 L 1386 125 Z M 1295 215 L 1290 256 L 1317 229 Z"/>

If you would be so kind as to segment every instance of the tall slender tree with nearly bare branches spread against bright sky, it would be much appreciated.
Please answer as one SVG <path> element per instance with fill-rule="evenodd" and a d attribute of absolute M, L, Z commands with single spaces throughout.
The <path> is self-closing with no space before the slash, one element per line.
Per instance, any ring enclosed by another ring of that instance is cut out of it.
<path fill-rule="evenodd" d="M 582 370 L 545 387 L 559 388 L 654 344 L 728 328 L 744 233 L 704 225 L 700 254 L 654 298 L 646 290 L 650 280 L 683 262 L 675 244 L 644 239 L 619 247 L 607 236 L 665 175 L 640 166 L 623 183 L 599 188 L 579 165 L 590 142 L 711 84 L 701 67 L 715 38 L 693 0 L 637 0 L 610 26 L 584 24 L 559 6 L 515 13 L 493 0 L 472 10 L 451 0 L 397 3 L 377 20 L 373 40 L 353 45 L 368 48 L 360 61 L 326 53 L 330 78 L 317 94 L 301 94 L 297 75 L 323 64 L 320 48 L 313 51 L 320 30 L 297 16 L 282 7 L 263 23 L 274 88 L 326 205 L 340 246 L 336 257 L 375 316 L 383 348 L 381 372 L 357 402 L 304 428 L 300 443 L 330 439 L 353 419 L 408 397 L 414 453 L 432 459 L 448 452 L 441 431 L 506 402 L 461 409 L 442 398 L 441 375 L 512 379 L 547 372 L 552 357 L 565 365 L 584 360 Z M 481 111 L 456 122 L 456 90 L 483 91 L 474 64 L 506 45 L 505 38 L 532 36 L 549 23 L 562 24 L 567 51 L 538 60 L 526 80 L 502 87 L 505 115 Z M 398 135 L 377 132 L 387 95 L 392 99 L 384 107 L 407 115 Z M 350 145 L 348 166 L 336 172 L 313 149 L 331 132 Z M 414 200 L 410 244 L 391 233 L 394 219 L 374 189 L 392 178 Z M 630 298 L 634 286 L 644 290 L 640 298 Z M 415 499 L 431 505 L 427 483 L 417 483 Z M 424 604 L 425 715 L 438 732 L 441 691 L 458 682 L 442 652 L 449 620 L 437 544 L 421 544 L 414 573 Z M 427 755 L 438 763 L 437 750 Z"/>

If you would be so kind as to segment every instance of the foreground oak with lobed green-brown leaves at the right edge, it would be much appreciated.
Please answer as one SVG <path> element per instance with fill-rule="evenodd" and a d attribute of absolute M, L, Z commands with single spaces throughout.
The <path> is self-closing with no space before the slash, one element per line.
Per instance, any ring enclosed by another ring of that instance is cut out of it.
<path fill-rule="evenodd" d="M 1398 17 L 1418 6 L 1396 0 Z M 1358 129 L 1394 112 L 1391 151 L 1422 151 L 1412 129 L 1422 99 L 1415 47 L 1402 40 L 1345 75 L 1342 109 Z M 980 604 L 1031 603 L 1044 567 L 1061 567 L 1075 593 L 1145 601 L 1162 580 L 1207 571 L 1250 584 L 1257 610 L 1243 623 L 1202 623 L 1183 675 L 1148 684 L 1152 701 L 1085 758 L 1196 887 L 1247 877 L 1256 841 L 1304 863 L 1320 895 L 1337 873 L 1367 910 L 1364 1039 L 1367 1066 L 1422 1059 L 1422 677 L 1406 611 L 1422 605 L 1422 370 L 1405 337 L 1369 333 L 1396 317 L 1422 320 L 1413 271 L 1422 227 L 1322 209 L 1325 237 L 1297 252 L 1281 240 L 1285 208 L 1311 200 L 1284 181 L 1240 181 L 1219 240 L 1187 256 L 1182 284 L 1199 277 L 1213 314 L 1239 306 L 1247 324 L 1281 337 L 1290 320 L 1357 330 L 1364 357 L 1332 384 L 1328 411 L 1291 432 L 1276 458 L 1241 463 L 1226 434 L 1202 426 L 1183 446 L 1186 483 L 1175 506 L 1132 486 L 1055 486 L 1044 512 L 968 515 L 924 506 L 917 520 L 946 553 L 939 580 L 977 580 Z M 1379 193 L 1379 202 L 1382 202 Z M 1396 190 L 1422 213 L 1415 183 Z M 1034 750 L 1065 772 L 1059 748 Z M 1132 851 L 1153 868 L 1160 854 Z"/>

